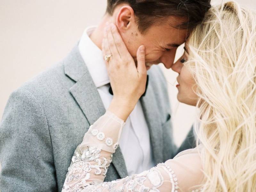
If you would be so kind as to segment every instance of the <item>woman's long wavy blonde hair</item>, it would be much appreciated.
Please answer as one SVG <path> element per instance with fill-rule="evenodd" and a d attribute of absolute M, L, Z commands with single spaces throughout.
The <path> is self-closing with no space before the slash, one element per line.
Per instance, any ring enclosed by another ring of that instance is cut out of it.
<path fill-rule="evenodd" d="M 256 12 L 212 7 L 191 33 L 186 65 L 199 96 L 203 191 L 256 191 Z"/>

